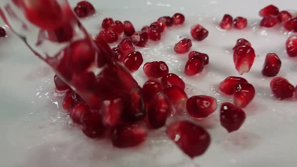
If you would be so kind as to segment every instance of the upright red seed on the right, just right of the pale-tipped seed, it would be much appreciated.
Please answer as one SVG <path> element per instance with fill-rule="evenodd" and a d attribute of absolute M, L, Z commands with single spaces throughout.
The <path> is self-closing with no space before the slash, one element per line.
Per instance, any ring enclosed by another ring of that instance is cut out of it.
<path fill-rule="evenodd" d="M 278 74 L 281 66 L 281 61 L 275 53 L 267 53 L 262 69 L 262 74 L 265 76 L 275 76 Z"/>

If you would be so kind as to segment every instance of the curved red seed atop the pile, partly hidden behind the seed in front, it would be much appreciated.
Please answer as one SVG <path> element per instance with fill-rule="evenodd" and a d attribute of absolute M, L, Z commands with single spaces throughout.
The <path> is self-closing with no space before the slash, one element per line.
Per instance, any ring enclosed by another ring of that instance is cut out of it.
<path fill-rule="evenodd" d="M 185 82 L 179 76 L 174 73 L 168 73 L 167 75 L 163 76 L 161 79 L 161 85 L 163 88 L 174 85 L 178 86 L 181 89 L 185 89 Z"/>

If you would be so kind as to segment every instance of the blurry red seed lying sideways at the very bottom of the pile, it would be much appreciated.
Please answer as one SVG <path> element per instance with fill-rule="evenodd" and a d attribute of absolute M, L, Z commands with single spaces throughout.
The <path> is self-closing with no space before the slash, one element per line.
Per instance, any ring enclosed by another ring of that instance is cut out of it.
<path fill-rule="evenodd" d="M 147 130 L 141 125 L 118 125 L 112 132 L 113 146 L 119 148 L 133 147 L 145 140 Z"/>

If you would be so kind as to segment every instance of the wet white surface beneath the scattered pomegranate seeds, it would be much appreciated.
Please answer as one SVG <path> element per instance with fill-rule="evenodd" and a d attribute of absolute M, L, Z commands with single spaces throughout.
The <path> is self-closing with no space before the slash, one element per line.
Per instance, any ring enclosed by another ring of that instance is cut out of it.
<path fill-rule="evenodd" d="M 71 4 L 76 2 L 71 0 Z M 62 98 L 53 96 L 52 71 L 8 32 L 8 38 L 0 39 L 0 166 L 295 166 L 296 102 L 276 101 L 270 95 L 271 78 L 263 77 L 261 68 L 266 53 L 275 52 L 282 60 L 279 75 L 296 85 L 297 60 L 286 55 L 284 43 L 288 35 L 284 35 L 280 26 L 263 29 L 256 22 L 260 19 L 258 11 L 268 4 L 274 4 L 280 10 L 291 7 L 296 10 L 297 2 L 90 2 L 99 16 L 85 20 L 83 24 L 92 34 L 99 32 L 105 17 L 129 20 L 139 30 L 161 16 L 176 12 L 185 14 L 185 25 L 167 29 L 160 42 L 150 42 L 147 48 L 136 50 L 142 53 L 144 61 L 166 61 L 170 72 L 177 73 L 186 82 L 189 96 L 204 94 L 217 98 L 219 103 L 230 101 L 230 97 L 216 92 L 216 85 L 227 76 L 238 75 L 231 48 L 238 38 L 248 39 L 257 57 L 251 71 L 243 77 L 255 86 L 257 95 L 244 109 L 246 122 L 239 131 L 228 134 L 219 124 L 218 110 L 209 118 L 197 121 L 207 128 L 212 140 L 206 153 L 193 161 L 163 135 L 162 129 L 151 133 L 144 144 L 132 149 L 117 149 L 109 141 L 88 139 L 77 127 L 68 124 L 69 119 L 60 109 Z M 216 26 L 225 13 L 247 17 L 249 27 L 242 31 L 218 31 Z M 178 36 L 190 37 L 189 28 L 197 23 L 209 30 L 209 36 L 202 42 L 193 41 L 192 50 L 207 53 L 210 64 L 200 75 L 185 77 L 183 68 L 187 55 L 176 55 L 173 47 L 180 40 Z M 256 26 L 251 25 L 253 23 Z M 140 85 L 146 79 L 142 69 L 134 76 Z"/>

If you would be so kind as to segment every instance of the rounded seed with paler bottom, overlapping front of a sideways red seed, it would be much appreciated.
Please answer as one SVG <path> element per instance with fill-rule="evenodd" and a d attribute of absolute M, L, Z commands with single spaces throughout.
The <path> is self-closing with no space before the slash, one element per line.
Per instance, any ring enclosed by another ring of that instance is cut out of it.
<path fill-rule="evenodd" d="M 249 83 L 238 83 L 234 89 L 234 104 L 245 108 L 255 97 L 255 88 Z"/>

